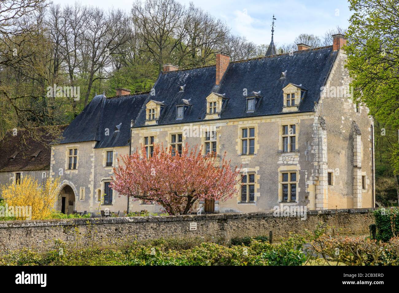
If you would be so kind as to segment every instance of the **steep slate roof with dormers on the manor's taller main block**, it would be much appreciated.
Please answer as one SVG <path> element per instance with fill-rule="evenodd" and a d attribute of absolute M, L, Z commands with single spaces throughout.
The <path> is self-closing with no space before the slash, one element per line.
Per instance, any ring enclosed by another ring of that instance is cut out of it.
<path fill-rule="evenodd" d="M 306 89 L 298 112 L 312 112 L 336 56 L 332 46 L 327 46 L 296 51 L 292 56 L 281 54 L 231 62 L 218 86 L 215 85 L 215 66 L 165 72 L 154 85 L 155 96 L 148 96 L 144 105 L 150 100 L 167 105 L 160 114 L 158 125 L 203 120 L 206 97 L 211 92 L 225 94 L 227 98 L 220 120 L 283 114 L 282 88 L 292 83 Z M 284 71 L 285 77 L 280 78 Z M 180 91 L 183 85 L 184 91 Z M 244 88 L 248 93 L 260 91 L 261 98 L 253 113 L 245 112 Z M 191 106 L 185 110 L 184 118 L 176 120 L 176 105 L 182 104 L 182 99 L 190 99 Z M 142 110 L 134 127 L 144 126 L 145 119 L 146 113 Z"/>

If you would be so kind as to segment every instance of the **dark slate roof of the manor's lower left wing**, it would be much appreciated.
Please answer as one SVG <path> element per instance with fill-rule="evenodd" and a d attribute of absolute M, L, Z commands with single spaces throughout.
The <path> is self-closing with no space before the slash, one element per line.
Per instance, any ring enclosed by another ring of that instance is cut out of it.
<path fill-rule="evenodd" d="M 128 146 L 130 121 L 136 119 L 147 97 L 148 93 L 114 98 L 95 96 L 65 129 L 60 144 L 97 141 L 95 148 Z"/>

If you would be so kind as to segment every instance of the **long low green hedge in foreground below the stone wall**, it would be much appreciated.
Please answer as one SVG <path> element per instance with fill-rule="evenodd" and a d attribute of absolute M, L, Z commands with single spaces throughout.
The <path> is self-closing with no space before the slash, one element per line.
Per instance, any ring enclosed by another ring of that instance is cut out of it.
<path fill-rule="evenodd" d="M 58 242 L 43 253 L 10 252 L 0 257 L 0 265 L 302 265 L 306 261 L 302 239 L 289 238 L 278 245 L 252 240 L 249 246 L 231 247 L 190 240 L 184 245 L 192 246 L 187 250 L 167 249 L 176 243 L 164 244 L 159 240 L 144 245 L 133 242 L 124 248 L 76 249 Z"/>

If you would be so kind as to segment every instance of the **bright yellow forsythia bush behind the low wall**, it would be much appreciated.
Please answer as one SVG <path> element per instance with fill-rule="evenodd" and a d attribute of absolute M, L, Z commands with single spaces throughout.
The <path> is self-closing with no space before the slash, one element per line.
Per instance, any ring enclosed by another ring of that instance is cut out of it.
<path fill-rule="evenodd" d="M 1 197 L 10 206 L 31 206 L 32 220 L 46 219 L 54 210 L 55 202 L 58 199 L 57 187 L 60 177 L 47 179 L 44 183 L 39 183 L 31 176 L 24 176 L 20 184 L 11 182 L 0 186 Z M 15 215 L 17 220 L 25 218 Z"/>

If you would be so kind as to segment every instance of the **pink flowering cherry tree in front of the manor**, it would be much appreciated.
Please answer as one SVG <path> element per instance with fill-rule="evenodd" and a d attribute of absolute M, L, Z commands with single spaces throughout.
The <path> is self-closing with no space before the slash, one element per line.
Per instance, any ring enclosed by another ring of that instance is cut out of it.
<path fill-rule="evenodd" d="M 120 195 L 153 201 L 174 215 L 192 212 L 197 201 L 226 201 L 237 194 L 239 168 L 232 169 L 225 155 L 219 164 L 214 153 L 203 156 L 202 147 L 187 144 L 181 155 L 158 145 L 149 159 L 145 153 L 142 147 L 141 153 L 121 156 L 111 183 Z"/>

